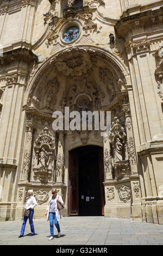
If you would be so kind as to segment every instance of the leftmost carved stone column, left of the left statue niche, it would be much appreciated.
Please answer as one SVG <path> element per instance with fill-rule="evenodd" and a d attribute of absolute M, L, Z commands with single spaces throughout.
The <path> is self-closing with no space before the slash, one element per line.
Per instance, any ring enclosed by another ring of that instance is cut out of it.
<path fill-rule="evenodd" d="M 23 164 L 21 170 L 21 181 L 28 181 L 28 174 L 31 167 L 32 157 L 32 139 L 33 139 L 34 123 L 33 121 L 27 122 L 26 125 L 26 143 L 24 147 Z"/>

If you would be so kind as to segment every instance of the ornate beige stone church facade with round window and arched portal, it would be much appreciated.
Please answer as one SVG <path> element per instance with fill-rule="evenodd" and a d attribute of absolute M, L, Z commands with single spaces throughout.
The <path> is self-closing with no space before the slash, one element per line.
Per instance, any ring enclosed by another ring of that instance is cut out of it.
<path fill-rule="evenodd" d="M 162 0 L 0 1 L 1 221 L 57 188 L 64 216 L 163 223 L 162 57 Z M 65 107 L 109 135 L 54 130 Z"/>

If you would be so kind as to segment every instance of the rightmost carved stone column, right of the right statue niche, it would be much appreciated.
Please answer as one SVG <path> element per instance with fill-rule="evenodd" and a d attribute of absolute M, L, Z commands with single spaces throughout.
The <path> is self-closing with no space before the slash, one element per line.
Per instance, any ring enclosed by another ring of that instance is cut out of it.
<path fill-rule="evenodd" d="M 133 173 L 137 173 L 137 164 L 136 164 L 135 143 L 134 143 L 133 127 L 131 123 L 129 103 L 123 105 L 123 112 L 125 115 L 125 127 L 127 132 L 128 158 L 129 158 L 130 167 L 131 167 L 131 174 L 133 174 Z"/>

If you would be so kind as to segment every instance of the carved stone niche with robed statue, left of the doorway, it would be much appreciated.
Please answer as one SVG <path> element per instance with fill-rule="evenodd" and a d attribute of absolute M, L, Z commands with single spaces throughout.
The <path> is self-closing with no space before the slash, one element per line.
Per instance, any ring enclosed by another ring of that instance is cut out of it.
<path fill-rule="evenodd" d="M 32 181 L 53 182 L 55 138 L 48 128 L 37 136 L 32 163 Z"/>

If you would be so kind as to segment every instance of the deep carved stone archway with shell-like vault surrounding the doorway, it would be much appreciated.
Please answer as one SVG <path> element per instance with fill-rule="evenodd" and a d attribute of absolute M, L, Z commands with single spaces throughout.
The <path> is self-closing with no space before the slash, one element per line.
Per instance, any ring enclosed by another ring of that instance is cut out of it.
<path fill-rule="evenodd" d="M 44 184 L 47 194 L 56 187 L 65 200 L 64 215 L 68 214 L 68 148 L 88 144 L 100 144 L 104 150 L 105 216 L 117 216 L 117 209 L 131 209 L 135 182 L 130 176 L 137 173 L 137 165 L 127 80 L 125 65 L 110 52 L 93 46 L 70 47 L 58 53 L 46 60 L 30 81 L 24 107 L 27 134 L 21 179 L 35 182 L 35 192 Z M 100 131 L 94 130 L 54 132 L 52 113 L 64 113 L 65 106 L 79 112 L 111 111 L 111 135 L 101 137 Z M 38 144 L 45 130 L 49 140 Z M 49 156 L 46 171 L 38 166 L 41 154 Z M 138 175 L 135 180 L 139 186 Z"/>

